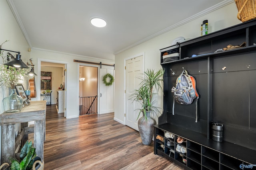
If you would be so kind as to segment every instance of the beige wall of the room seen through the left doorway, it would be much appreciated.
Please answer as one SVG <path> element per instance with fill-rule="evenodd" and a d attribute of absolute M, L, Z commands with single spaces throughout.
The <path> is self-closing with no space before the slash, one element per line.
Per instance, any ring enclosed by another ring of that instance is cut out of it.
<path fill-rule="evenodd" d="M 51 94 L 51 103 L 57 103 L 57 90 L 60 87 L 60 84 L 63 84 L 63 68 L 54 67 L 54 66 L 41 66 L 41 71 L 52 72 L 52 94 Z M 40 74 L 39 74 L 40 75 Z M 41 92 L 44 90 L 41 90 Z"/>

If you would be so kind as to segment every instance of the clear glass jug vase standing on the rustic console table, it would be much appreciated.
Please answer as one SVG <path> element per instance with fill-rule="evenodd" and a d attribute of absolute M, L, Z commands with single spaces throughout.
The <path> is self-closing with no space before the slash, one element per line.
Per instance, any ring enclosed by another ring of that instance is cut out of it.
<path fill-rule="evenodd" d="M 15 89 L 11 89 L 10 96 L 3 99 L 4 111 L 5 112 L 16 112 L 20 111 L 23 106 L 23 98 L 16 94 Z"/>

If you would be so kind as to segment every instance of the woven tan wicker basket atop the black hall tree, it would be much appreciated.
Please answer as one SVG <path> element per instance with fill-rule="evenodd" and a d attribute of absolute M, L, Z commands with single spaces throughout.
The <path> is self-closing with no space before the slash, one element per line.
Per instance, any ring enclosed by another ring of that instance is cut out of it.
<path fill-rule="evenodd" d="M 256 0 L 235 0 L 238 20 L 245 22 L 256 18 Z"/>

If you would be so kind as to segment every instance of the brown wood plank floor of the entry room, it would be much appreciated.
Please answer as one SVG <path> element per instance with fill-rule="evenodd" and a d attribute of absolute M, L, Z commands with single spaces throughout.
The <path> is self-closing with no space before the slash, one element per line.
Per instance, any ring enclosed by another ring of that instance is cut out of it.
<path fill-rule="evenodd" d="M 66 119 L 47 106 L 44 170 L 183 169 L 154 155 L 153 145 L 142 145 L 138 131 L 114 121 L 114 113 Z"/>

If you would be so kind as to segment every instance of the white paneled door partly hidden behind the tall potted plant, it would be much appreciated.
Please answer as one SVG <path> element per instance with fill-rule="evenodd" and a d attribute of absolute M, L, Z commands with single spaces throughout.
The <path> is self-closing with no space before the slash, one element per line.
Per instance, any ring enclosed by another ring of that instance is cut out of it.
<path fill-rule="evenodd" d="M 144 72 L 144 61 L 143 55 L 140 55 L 136 58 L 126 60 L 126 94 L 125 94 L 125 103 L 126 103 L 126 115 L 125 115 L 125 124 L 138 131 L 138 113 L 136 109 L 140 109 L 141 106 L 137 102 L 132 102 L 130 100 L 131 94 L 134 92 L 134 89 L 138 89 L 138 86 L 141 80 L 138 78 L 138 74 Z M 142 114 L 141 114 L 142 116 Z"/>

